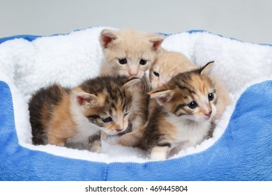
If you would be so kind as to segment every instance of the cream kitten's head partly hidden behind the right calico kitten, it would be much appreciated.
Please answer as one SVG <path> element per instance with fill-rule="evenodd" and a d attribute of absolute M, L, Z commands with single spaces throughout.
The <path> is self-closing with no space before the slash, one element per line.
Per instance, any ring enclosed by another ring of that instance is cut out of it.
<path fill-rule="evenodd" d="M 167 52 L 156 56 L 156 61 L 150 68 L 149 79 L 153 89 L 163 86 L 172 77 L 181 72 L 187 72 L 197 68 L 186 56 L 179 52 Z"/>

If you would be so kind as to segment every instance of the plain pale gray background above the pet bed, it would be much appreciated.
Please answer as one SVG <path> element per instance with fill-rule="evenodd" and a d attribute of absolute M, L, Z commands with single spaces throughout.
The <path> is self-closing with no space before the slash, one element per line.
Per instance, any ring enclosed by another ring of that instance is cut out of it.
<path fill-rule="evenodd" d="M 178 33 L 204 29 L 272 44 L 269 0 L 0 0 L 0 37 L 69 33 L 91 26 Z"/>

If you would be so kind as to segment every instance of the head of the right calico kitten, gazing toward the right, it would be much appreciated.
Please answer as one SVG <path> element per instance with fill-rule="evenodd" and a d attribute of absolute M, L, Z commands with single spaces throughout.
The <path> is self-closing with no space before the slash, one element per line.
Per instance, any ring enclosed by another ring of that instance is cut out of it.
<path fill-rule="evenodd" d="M 204 122 L 216 114 L 217 95 L 204 69 L 176 75 L 164 86 L 151 91 L 151 98 L 175 116 Z"/>

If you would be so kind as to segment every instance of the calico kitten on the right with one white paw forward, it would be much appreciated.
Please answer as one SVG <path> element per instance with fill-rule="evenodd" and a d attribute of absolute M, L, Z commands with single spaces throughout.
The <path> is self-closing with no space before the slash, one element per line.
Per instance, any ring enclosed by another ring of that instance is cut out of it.
<path fill-rule="evenodd" d="M 125 134 L 126 141 L 148 151 L 153 160 L 165 160 L 175 150 L 212 137 L 218 103 L 212 65 L 180 73 L 151 91 L 149 120 L 139 131 Z"/>

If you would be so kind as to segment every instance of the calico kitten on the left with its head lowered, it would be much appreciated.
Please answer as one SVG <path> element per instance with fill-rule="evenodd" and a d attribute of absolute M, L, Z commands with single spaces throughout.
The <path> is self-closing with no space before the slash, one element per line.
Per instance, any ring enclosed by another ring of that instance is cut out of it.
<path fill-rule="evenodd" d="M 137 82 L 137 77 L 105 76 L 87 79 L 73 89 L 59 84 L 40 88 L 29 100 L 33 144 L 88 144 L 90 136 L 99 137 L 100 131 L 110 135 L 125 131 L 132 109 L 131 87 Z M 89 150 L 99 152 L 99 143 L 94 145 Z"/>

